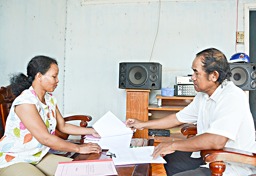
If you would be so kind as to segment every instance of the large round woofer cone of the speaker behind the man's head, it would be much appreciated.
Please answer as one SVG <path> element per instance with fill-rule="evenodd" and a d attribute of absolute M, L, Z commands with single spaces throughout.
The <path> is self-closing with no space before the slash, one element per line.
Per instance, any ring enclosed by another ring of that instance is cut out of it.
<path fill-rule="evenodd" d="M 231 70 L 231 73 L 231 81 L 233 81 L 236 86 L 243 86 L 247 82 L 247 72 L 243 68 L 236 67 Z"/>

